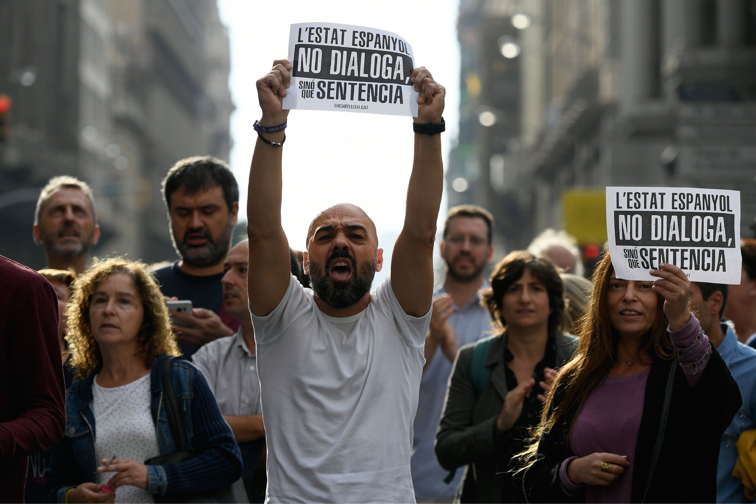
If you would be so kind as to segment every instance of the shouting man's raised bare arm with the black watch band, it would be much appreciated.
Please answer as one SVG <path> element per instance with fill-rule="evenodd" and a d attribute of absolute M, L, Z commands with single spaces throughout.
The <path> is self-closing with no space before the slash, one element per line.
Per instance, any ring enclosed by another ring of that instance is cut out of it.
<path fill-rule="evenodd" d="M 441 122 L 444 111 L 444 86 L 433 80 L 425 67 L 412 73 L 418 112 L 414 122 Z M 444 188 L 444 164 L 441 159 L 441 135 L 415 133 L 412 175 L 407 188 L 407 211 L 391 261 L 391 284 L 401 308 L 414 317 L 422 317 L 433 295 L 433 241 L 438 207 Z"/>

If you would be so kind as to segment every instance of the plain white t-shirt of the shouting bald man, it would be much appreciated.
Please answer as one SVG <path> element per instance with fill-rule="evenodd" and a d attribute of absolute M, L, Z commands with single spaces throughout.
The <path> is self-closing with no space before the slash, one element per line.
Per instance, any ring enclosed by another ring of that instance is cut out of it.
<path fill-rule="evenodd" d="M 430 310 L 411 317 L 391 279 L 352 317 L 329 317 L 291 277 L 255 317 L 268 444 L 265 502 L 414 502 L 410 472 Z"/>

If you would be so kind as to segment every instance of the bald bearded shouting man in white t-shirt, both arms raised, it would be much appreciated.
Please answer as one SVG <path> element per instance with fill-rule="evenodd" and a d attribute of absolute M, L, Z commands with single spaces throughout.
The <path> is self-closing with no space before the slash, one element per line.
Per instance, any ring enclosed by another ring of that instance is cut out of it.
<path fill-rule="evenodd" d="M 433 290 L 432 251 L 443 165 L 444 93 L 428 70 L 420 91 L 404 229 L 391 276 L 373 221 L 342 203 L 311 222 L 312 290 L 290 274 L 281 227 L 282 99 L 291 64 L 257 81 L 262 119 L 249 173 L 249 306 L 268 442 L 269 502 L 414 502 L 412 425 Z M 434 135 L 434 133 L 436 133 Z"/>

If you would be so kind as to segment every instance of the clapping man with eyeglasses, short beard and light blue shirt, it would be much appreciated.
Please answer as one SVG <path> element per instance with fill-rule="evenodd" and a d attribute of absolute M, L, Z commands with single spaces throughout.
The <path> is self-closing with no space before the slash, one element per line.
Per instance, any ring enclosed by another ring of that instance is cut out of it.
<path fill-rule="evenodd" d="M 441 256 L 446 261 L 446 279 L 433 295 L 414 424 L 411 466 L 417 502 L 451 502 L 462 478 L 462 471 L 448 478 L 449 472 L 435 459 L 433 441 L 457 348 L 487 336 L 491 326 L 479 291 L 488 287 L 483 270 L 494 254 L 493 223 L 487 210 L 463 205 L 449 210 L 444 224 Z"/>

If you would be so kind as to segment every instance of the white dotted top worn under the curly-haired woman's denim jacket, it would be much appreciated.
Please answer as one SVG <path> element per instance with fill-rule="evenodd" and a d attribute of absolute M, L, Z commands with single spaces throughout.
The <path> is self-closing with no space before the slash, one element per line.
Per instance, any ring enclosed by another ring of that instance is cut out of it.
<path fill-rule="evenodd" d="M 92 385 L 95 398 L 95 458 L 134 459 L 144 463 L 160 455 L 157 431 L 150 413 L 150 373 L 120 387 Z M 98 483 L 107 483 L 115 472 L 98 473 Z M 132 485 L 116 488 L 116 502 L 155 502 L 152 493 Z"/>

